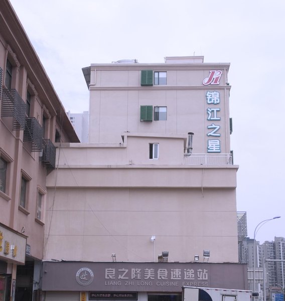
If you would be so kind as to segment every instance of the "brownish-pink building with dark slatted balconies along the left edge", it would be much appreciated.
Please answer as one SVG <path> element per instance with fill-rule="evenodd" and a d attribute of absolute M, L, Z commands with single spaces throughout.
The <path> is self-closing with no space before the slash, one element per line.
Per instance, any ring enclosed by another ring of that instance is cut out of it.
<path fill-rule="evenodd" d="M 8 0 L 0 4 L 0 116 L 0 300 L 39 300 L 46 177 L 55 142 L 79 139 Z"/>

